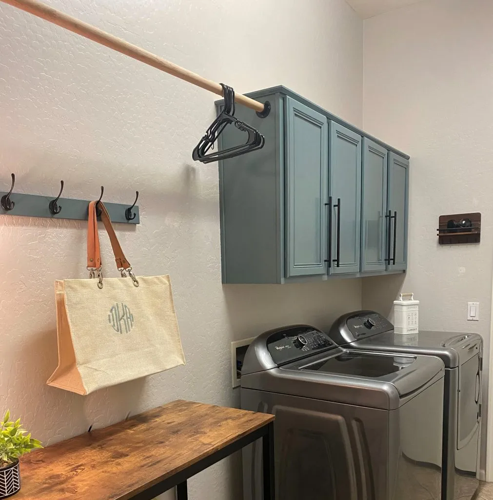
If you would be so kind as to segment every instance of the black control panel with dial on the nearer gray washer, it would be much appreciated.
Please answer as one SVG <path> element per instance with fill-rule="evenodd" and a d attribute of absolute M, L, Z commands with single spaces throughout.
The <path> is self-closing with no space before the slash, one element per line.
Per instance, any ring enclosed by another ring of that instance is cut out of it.
<path fill-rule="evenodd" d="M 323 331 L 307 325 L 276 330 L 268 336 L 266 343 L 269 354 L 277 365 L 336 346 Z"/>

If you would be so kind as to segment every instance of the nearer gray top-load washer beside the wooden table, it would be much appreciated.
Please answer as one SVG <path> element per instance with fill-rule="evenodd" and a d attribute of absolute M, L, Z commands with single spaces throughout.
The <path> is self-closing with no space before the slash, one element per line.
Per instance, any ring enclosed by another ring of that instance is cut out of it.
<path fill-rule="evenodd" d="M 241 407 L 274 413 L 278 500 L 441 497 L 444 363 L 344 349 L 308 325 L 249 346 Z M 243 451 L 244 500 L 262 500 L 262 443 Z"/>

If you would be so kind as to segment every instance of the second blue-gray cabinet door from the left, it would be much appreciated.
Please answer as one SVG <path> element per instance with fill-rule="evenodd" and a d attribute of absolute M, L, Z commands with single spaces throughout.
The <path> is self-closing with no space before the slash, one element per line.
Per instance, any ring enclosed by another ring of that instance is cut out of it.
<path fill-rule="evenodd" d="M 330 273 L 360 270 L 361 135 L 339 123 L 330 129 Z"/>

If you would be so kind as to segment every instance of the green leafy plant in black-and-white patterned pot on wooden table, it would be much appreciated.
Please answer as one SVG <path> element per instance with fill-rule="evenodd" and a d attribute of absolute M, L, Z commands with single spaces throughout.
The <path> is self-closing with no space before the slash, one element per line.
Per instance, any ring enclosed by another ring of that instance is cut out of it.
<path fill-rule="evenodd" d="M 12 496 L 20 489 L 19 456 L 42 448 L 37 439 L 20 427 L 20 418 L 10 421 L 7 410 L 0 421 L 0 498 Z"/>

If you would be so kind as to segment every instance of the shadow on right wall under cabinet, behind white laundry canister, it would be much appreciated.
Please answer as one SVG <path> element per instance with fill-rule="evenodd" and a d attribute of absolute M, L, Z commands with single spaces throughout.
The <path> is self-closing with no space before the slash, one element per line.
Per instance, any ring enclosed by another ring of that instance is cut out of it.
<path fill-rule="evenodd" d="M 394 300 L 401 293 L 405 277 L 402 273 L 363 278 L 362 308 L 380 312 L 394 322 Z"/>

